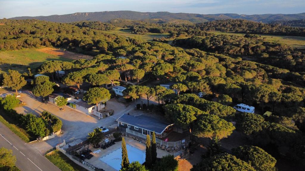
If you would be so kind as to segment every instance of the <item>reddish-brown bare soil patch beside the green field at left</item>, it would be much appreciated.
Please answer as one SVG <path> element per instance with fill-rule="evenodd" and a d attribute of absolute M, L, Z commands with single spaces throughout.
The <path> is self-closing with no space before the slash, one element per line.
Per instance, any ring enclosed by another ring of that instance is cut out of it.
<path fill-rule="evenodd" d="M 73 53 L 73 52 L 63 51 L 61 49 L 55 49 L 55 48 L 52 48 L 52 47 L 43 47 L 43 48 L 37 49 L 36 51 L 60 56 L 60 57 L 63 57 L 63 58 L 75 59 L 75 60 L 77 60 L 77 59 L 92 59 L 93 58 L 92 56 L 89 56 L 89 55 L 77 54 L 77 53 Z"/>

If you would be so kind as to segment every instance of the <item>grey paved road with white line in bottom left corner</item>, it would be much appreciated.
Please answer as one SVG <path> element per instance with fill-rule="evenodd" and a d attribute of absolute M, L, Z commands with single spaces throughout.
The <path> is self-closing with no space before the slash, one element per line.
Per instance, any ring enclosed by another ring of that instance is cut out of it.
<path fill-rule="evenodd" d="M 25 144 L 17 135 L 0 122 L 0 147 L 13 150 L 16 166 L 22 171 L 60 171 L 36 148 Z"/>

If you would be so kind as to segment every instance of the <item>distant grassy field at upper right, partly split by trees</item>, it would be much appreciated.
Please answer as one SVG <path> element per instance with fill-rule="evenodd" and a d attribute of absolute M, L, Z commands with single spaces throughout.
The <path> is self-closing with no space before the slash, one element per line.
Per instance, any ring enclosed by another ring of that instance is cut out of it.
<path fill-rule="evenodd" d="M 212 32 L 214 34 L 233 34 L 237 36 L 244 36 L 245 34 L 242 33 L 224 33 L 224 32 Z M 276 43 L 283 43 L 288 44 L 294 48 L 305 49 L 305 37 L 296 37 L 296 36 L 274 36 L 274 35 L 264 35 L 258 34 L 258 36 L 264 38 L 269 42 L 276 42 Z"/>

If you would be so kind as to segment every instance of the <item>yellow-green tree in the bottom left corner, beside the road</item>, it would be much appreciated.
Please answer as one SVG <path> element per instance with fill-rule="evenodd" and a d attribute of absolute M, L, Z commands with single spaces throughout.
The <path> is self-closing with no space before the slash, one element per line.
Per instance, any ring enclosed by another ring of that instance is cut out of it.
<path fill-rule="evenodd" d="M 13 155 L 12 150 L 8 150 L 4 147 L 0 148 L 0 170 L 1 171 L 13 171 L 16 169 L 16 156 Z"/>

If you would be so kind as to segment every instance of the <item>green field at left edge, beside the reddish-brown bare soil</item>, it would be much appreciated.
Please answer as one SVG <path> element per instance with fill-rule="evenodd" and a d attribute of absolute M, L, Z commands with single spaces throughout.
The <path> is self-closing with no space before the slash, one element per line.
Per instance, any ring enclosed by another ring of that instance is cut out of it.
<path fill-rule="evenodd" d="M 9 69 L 18 70 L 20 73 L 27 72 L 28 67 L 36 69 L 45 61 L 72 61 L 69 58 L 46 54 L 35 49 L 2 51 L 0 52 L 0 57 L 0 73 L 7 72 Z"/>

